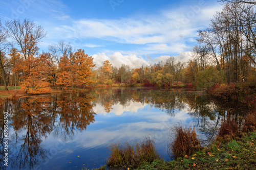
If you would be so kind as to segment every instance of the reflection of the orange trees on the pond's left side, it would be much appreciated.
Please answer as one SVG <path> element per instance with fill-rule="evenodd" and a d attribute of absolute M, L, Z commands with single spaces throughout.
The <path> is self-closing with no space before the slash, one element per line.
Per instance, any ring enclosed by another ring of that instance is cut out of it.
<path fill-rule="evenodd" d="M 45 162 L 50 153 L 41 143 L 51 133 L 66 141 L 73 137 L 76 130 L 84 130 L 94 122 L 94 98 L 89 95 L 73 97 L 53 95 L 18 99 L 12 104 L 10 101 L 4 103 L 6 108 L 1 107 L 2 113 L 4 110 L 12 113 L 9 122 L 14 131 L 9 140 L 9 145 L 12 145 L 12 151 L 9 151 L 9 154 L 12 152 L 9 160 L 12 168 L 33 169 L 39 162 Z M 0 137 L 3 139 L 3 124 Z M 3 161 L 0 165 L 2 169 Z"/>

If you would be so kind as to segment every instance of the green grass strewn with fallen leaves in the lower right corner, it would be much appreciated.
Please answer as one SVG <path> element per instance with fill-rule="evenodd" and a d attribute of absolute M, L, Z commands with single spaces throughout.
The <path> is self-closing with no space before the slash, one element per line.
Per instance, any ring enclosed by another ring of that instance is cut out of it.
<path fill-rule="evenodd" d="M 138 169 L 256 169 L 256 132 L 174 161 L 144 162 Z"/>

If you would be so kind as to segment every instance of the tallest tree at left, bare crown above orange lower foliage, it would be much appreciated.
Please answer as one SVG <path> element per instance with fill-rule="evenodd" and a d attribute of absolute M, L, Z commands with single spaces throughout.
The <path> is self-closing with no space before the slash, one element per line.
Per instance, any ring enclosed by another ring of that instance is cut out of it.
<path fill-rule="evenodd" d="M 37 62 L 37 59 L 34 57 L 39 50 L 37 45 L 47 33 L 41 26 L 36 25 L 33 21 L 28 19 L 24 19 L 23 21 L 20 21 L 19 19 L 8 20 L 6 21 L 5 26 L 7 34 L 11 39 L 13 39 L 13 43 L 19 47 L 19 52 L 22 53 L 23 57 L 25 58 L 23 63 L 23 87 L 26 89 L 26 92 L 28 92 L 30 85 L 33 84 L 33 82 L 30 81 L 35 80 L 35 77 L 39 76 L 35 71 L 38 69 L 38 67 L 35 67 L 35 65 L 38 63 L 34 63 Z M 30 71 L 33 71 L 33 73 L 36 75 L 31 74 Z M 35 84 L 33 84 L 33 86 L 34 85 Z M 45 86 L 45 83 L 42 85 Z M 41 89 L 41 87 L 39 89 Z"/>

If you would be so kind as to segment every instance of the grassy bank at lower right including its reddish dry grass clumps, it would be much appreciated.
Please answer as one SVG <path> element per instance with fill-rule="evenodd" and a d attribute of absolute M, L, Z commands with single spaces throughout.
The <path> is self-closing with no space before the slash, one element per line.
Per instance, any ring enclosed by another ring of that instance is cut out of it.
<path fill-rule="evenodd" d="M 174 154 L 175 160 L 165 162 L 156 159 L 157 156 L 154 158 L 154 152 L 145 152 L 154 160 L 143 159 L 135 164 L 135 156 L 125 153 L 136 151 L 133 147 L 131 149 L 131 144 L 125 143 L 124 147 L 111 145 L 107 165 L 110 169 L 256 169 L 255 111 L 246 116 L 242 127 L 232 118 L 223 121 L 215 140 L 208 147 L 201 147 L 195 129 L 179 125 L 173 131 L 175 137 L 168 150 L 172 152 L 170 155 Z M 154 148 L 152 142 L 151 148 Z M 111 161 L 113 157 L 119 161 Z"/>

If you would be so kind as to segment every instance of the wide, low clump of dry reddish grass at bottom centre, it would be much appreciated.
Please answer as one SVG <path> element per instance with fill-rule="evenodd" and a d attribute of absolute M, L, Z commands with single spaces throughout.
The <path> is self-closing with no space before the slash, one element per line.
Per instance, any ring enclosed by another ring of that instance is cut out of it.
<path fill-rule="evenodd" d="M 136 141 L 131 144 L 125 142 L 111 143 L 109 147 L 110 156 L 106 161 L 109 167 L 137 167 L 142 162 L 153 162 L 155 159 L 161 159 L 156 151 L 154 140 L 144 138 L 142 141 Z"/>

